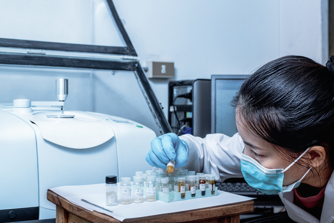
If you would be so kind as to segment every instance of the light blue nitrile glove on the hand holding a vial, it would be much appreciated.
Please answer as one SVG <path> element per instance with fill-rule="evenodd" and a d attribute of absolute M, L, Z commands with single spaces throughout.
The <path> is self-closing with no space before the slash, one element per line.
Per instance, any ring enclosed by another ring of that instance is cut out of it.
<path fill-rule="evenodd" d="M 184 166 L 188 161 L 188 143 L 174 133 L 167 133 L 152 139 L 151 149 L 146 161 L 157 168 L 167 169 L 169 160 L 175 160 L 175 168 Z"/>

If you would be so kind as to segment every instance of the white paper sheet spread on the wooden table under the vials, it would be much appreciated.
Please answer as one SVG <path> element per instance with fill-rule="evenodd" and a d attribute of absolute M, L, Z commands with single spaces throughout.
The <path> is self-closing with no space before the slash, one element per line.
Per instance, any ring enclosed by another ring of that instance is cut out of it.
<path fill-rule="evenodd" d="M 107 206 L 105 205 L 106 203 L 105 184 L 63 186 L 63 187 L 51 188 L 50 190 L 74 204 L 77 204 L 91 211 L 94 210 L 110 215 L 120 221 L 123 221 L 126 218 L 140 218 L 151 215 L 167 214 L 179 211 L 213 207 L 218 205 L 232 204 L 254 199 L 231 194 L 224 191 L 218 191 L 217 196 L 176 201 L 170 203 L 158 200 L 154 202 L 147 202 L 144 199 L 144 202 L 140 204 L 132 203 L 128 205 L 122 205 L 119 204 L 120 201 L 118 196 L 118 205 Z M 85 199 L 93 204 L 99 205 L 114 212 L 111 213 L 108 211 L 104 211 L 100 208 L 82 202 L 81 199 Z"/>

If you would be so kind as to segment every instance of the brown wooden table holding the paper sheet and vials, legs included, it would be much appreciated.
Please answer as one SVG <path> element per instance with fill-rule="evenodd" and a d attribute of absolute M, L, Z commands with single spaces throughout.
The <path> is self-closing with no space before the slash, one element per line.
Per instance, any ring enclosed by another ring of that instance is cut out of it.
<path fill-rule="evenodd" d="M 65 198 L 59 196 L 51 190 L 47 191 L 47 200 L 56 205 L 56 223 L 106 223 L 121 222 L 109 215 L 90 211 L 81 206 L 73 204 Z M 230 205 L 220 205 L 208 208 L 201 208 L 189 211 L 181 211 L 172 214 L 153 215 L 142 218 L 128 218 L 123 222 L 219 222 L 219 223 L 238 223 L 239 215 L 252 212 L 254 201 L 245 201 Z"/>

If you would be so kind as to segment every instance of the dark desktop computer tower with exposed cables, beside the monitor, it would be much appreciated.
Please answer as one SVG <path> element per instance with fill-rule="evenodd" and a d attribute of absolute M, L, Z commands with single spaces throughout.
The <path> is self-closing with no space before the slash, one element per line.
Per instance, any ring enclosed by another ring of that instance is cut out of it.
<path fill-rule="evenodd" d="M 204 138 L 211 132 L 211 80 L 170 81 L 168 122 L 177 135 Z"/>

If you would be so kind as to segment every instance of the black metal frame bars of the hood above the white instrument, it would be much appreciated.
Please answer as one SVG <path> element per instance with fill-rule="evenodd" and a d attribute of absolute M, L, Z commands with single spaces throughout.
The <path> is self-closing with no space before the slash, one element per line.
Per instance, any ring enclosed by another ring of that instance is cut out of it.
<path fill-rule="evenodd" d="M 123 27 L 121 19 L 118 16 L 113 1 L 107 0 L 107 2 L 117 24 L 117 27 L 119 28 L 122 37 L 127 45 L 126 47 L 56 43 L 5 38 L 0 38 L 0 46 L 137 56 L 137 53 L 130 41 L 130 38 Z M 82 59 L 65 56 L 48 56 L 43 54 L 0 53 L 0 64 L 134 71 L 138 84 L 152 112 L 153 118 L 157 123 L 160 133 L 164 134 L 171 132 L 171 127 L 166 120 L 161 105 L 158 102 L 147 80 L 147 77 L 145 76 L 145 73 L 138 61 L 122 62 L 102 59 Z"/>

